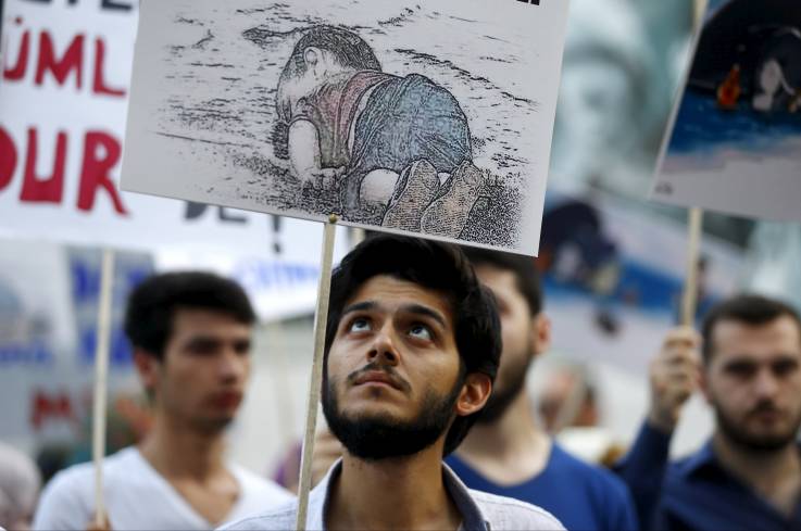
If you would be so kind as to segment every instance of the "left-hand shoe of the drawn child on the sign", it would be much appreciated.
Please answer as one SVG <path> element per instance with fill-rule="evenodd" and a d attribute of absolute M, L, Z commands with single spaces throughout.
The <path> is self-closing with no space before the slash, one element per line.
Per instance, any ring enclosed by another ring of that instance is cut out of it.
<path fill-rule="evenodd" d="M 413 162 L 398 179 L 381 226 L 420 232 L 421 215 L 438 192 L 437 168 L 428 161 Z"/>

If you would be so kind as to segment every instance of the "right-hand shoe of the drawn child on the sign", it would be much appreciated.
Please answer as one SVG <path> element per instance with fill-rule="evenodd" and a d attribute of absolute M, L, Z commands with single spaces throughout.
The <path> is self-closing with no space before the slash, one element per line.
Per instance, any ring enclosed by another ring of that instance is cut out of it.
<path fill-rule="evenodd" d="M 464 161 L 460 164 L 450 180 L 443 185 L 447 191 L 423 212 L 423 231 L 443 238 L 459 238 L 485 180 L 483 172 L 473 162 Z"/>

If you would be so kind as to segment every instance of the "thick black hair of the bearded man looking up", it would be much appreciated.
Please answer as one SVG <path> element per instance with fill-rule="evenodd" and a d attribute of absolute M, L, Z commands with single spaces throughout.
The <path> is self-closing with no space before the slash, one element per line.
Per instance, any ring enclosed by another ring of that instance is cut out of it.
<path fill-rule="evenodd" d="M 378 275 L 442 293 L 454 319 L 460 377 L 480 372 L 495 381 L 501 357 L 501 325 L 495 298 L 480 285 L 470 261 L 456 245 L 390 235 L 365 239 L 334 270 L 325 334 L 326 380 L 328 352 L 345 304 L 360 286 Z M 445 455 L 459 446 L 479 413 L 453 420 L 446 435 Z"/>

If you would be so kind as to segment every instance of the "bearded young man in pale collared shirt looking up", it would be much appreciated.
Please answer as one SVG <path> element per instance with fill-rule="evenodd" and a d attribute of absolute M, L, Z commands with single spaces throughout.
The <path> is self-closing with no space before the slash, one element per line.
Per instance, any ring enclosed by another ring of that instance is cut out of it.
<path fill-rule="evenodd" d="M 442 463 L 492 388 L 498 314 L 453 246 L 376 236 L 331 279 L 323 410 L 345 454 L 306 529 L 563 529 L 533 505 L 471 491 Z M 288 504 L 228 529 L 290 529 Z"/>

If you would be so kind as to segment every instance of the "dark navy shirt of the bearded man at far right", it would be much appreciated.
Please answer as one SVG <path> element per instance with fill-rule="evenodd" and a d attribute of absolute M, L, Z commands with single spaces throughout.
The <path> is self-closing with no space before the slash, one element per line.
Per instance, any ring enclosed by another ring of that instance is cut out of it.
<path fill-rule="evenodd" d="M 671 530 L 801 529 L 801 500 L 790 518 L 728 472 L 712 442 L 678 462 L 667 462 L 671 435 L 646 423 L 619 475 L 634 493 L 647 528 Z M 801 450 L 801 448 L 800 448 Z"/>

